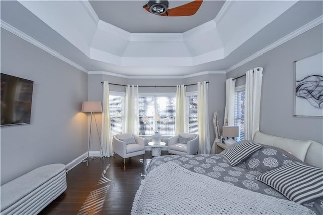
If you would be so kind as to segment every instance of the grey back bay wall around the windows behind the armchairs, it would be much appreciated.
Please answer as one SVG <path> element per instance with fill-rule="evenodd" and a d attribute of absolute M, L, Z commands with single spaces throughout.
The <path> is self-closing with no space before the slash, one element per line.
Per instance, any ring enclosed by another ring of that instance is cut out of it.
<path fill-rule="evenodd" d="M 177 84 L 192 84 L 198 81 L 209 81 L 209 128 L 210 128 L 210 142 L 214 142 L 214 126 L 213 126 L 213 114 L 215 110 L 219 113 L 219 124 L 223 123 L 224 107 L 225 107 L 225 74 L 206 74 L 199 75 L 190 78 L 169 78 L 169 79 L 127 79 L 120 78 L 111 75 L 101 75 L 101 74 L 91 74 L 88 76 L 88 98 L 91 101 L 101 101 L 103 96 L 103 85 L 102 81 L 109 81 L 109 83 L 115 84 L 135 84 L 135 85 L 150 85 L 150 86 L 169 86 Z M 111 91 L 125 92 L 125 87 L 109 85 Z M 186 88 L 187 92 L 197 91 L 197 85 L 188 86 Z M 139 93 L 141 92 L 174 92 L 176 93 L 176 87 L 141 87 L 139 88 Z M 98 126 L 101 129 L 101 115 L 97 114 Z M 99 151 L 99 140 L 97 135 L 93 136 L 92 139 L 95 144 L 91 145 L 91 151 Z"/>

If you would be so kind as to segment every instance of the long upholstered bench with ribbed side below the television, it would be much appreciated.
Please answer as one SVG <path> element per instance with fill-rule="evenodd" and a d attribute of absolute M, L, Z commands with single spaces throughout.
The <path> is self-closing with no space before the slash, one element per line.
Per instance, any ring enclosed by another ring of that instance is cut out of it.
<path fill-rule="evenodd" d="M 1 186 L 1 214 L 37 214 L 66 190 L 64 164 L 36 168 Z"/>

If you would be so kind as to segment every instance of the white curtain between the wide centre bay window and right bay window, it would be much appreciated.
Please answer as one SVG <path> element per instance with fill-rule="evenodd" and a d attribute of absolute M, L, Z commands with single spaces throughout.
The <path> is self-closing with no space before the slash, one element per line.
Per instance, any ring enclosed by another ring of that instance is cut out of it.
<path fill-rule="evenodd" d="M 176 112 L 175 112 L 175 135 L 186 130 L 186 86 L 184 84 L 176 86 Z"/>

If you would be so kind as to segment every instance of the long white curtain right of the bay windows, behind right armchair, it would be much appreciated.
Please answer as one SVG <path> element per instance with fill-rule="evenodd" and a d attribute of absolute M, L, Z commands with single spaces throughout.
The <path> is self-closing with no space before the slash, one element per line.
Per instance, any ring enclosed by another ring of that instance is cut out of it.
<path fill-rule="evenodd" d="M 199 133 L 199 154 L 210 154 L 210 129 L 208 115 L 208 83 L 197 82 L 197 118 Z"/>

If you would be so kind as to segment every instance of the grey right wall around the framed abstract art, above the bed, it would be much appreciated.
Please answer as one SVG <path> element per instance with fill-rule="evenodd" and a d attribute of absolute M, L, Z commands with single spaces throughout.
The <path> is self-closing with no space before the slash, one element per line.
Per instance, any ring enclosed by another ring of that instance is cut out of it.
<path fill-rule="evenodd" d="M 234 78 L 263 67 L 260 130 L 264 133 L 323 143 L 323 118 L 294 117 L 294 61 L 323 50 L 322 24 L 227 73 Z M 323 67 L 323 66 L 322 66 Z M 323 69 L 323 68 L 321 68 Z M 245 77 L 236 86 L 245 84 Z"/>

